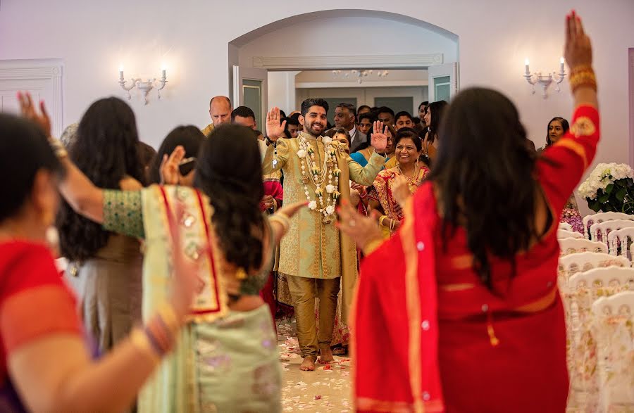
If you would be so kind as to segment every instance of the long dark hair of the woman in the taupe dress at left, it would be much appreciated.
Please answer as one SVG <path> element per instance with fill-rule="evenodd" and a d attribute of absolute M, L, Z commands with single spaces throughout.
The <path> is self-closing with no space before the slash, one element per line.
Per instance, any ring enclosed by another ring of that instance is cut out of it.
<path fill-rule="evenodd" d="M 80 121 L 68 155 L 99 188 L 119 189 L 120 180 L 126 176 L 144 182 L 135 114 L 121 99 L 110 97 L 92 103 Z M 66 202 L 61 205 L 57 227 L 61 253 L 72 261 L 94 257 L 111 235 Z"/>

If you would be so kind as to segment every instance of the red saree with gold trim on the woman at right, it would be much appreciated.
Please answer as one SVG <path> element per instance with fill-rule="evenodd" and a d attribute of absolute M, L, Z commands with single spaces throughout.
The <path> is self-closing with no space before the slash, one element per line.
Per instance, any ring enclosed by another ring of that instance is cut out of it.
<path fill-rule="evenodd" d="M 471 268 L 466 233 L 442 248 L 433 186 L 406 206 L 397 236 L 361 265 L 354 306 L 354 402 L 359 412 L 564 412 L 564 310 L 557 224 L 594 158 L 599 114 L 580 106 L 570 132 L 537 160 L 552 212 L 539 243 L 509 262 L 490 258 L 495 293 Z"/>

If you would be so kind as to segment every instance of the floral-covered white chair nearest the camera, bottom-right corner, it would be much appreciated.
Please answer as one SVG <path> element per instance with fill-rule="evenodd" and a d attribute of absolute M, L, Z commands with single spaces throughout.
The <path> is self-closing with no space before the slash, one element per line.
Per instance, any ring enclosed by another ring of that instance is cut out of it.
<path fill-rule="evenodd" d="M 634 412 L 634 291 L 592 304 L 601 412 Z"/>

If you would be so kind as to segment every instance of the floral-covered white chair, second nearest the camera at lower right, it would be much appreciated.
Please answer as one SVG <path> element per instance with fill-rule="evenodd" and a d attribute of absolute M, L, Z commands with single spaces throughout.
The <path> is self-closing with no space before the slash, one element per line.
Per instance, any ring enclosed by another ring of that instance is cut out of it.
<path fill-rule="evenodd" d="M 592 303 L 634 288 L 634 269 L 606 267 L 579 272 L 569 280 L 566 294 L 568 317 L 568 368 L 571 373 L 573 403 L 580 411 L 596 412 L 599 403 L 597 348 L 592 337 Z"/>

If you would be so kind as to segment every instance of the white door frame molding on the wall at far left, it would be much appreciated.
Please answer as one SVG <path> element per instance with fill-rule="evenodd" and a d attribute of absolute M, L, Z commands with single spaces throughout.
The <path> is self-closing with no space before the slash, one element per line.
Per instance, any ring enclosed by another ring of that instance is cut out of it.
<path fill-rule="evenodd" d="M 50 82 L 53 99 L 46 101 L 51 117 L 51 133 L 61 136 L 63 132 L 63 64 L 58 59 L 25 61 L 0 61 L 1 80 L 44 80 Z"/>

